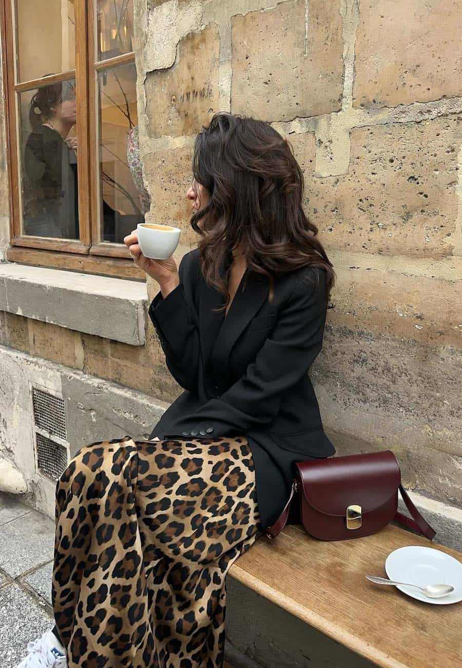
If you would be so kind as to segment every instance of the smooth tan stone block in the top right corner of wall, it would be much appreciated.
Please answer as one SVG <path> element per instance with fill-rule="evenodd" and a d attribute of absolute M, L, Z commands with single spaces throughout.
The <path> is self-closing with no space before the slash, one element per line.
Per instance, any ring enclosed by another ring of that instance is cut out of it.
<path fill-rule="evenodd" d="M 396 107 L 462 94 L 461 0 L 361 3 L 353 106 Z"/>

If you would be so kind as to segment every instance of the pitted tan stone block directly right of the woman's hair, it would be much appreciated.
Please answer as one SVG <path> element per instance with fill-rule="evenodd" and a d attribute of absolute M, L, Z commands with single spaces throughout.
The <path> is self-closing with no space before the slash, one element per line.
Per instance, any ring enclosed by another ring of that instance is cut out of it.
<path fill-rule="evenodd" d="M 353 128 L 346 174 L 318 178 L 310 162 L 306 213 L 327 250 L 452 255 L 461 127 L 462 119 L 452 114 L 420 123 Z M 290 141 L 295 148 L 306 140 L 291 135 Z"/>

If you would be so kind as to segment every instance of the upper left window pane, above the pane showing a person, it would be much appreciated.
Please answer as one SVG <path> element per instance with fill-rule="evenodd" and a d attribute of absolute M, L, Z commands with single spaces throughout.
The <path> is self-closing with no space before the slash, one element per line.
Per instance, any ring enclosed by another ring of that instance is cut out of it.
<path fill-rule="evenodd" d="M 15 6 L 18 81 L 74 69 L 73 0 L 15 0 Z"/>

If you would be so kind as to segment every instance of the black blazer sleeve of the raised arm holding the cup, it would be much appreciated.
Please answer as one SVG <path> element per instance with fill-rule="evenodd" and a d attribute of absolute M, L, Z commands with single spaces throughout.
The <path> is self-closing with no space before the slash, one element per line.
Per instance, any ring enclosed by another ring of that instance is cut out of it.
<path fill-rule="evenodd" d="M 197 391 L 199 332 L 184 294 L 186 255 L 180 261 L 180 284 L 164 299 L 159 291 L 148 313 L 158 333 L 168 370 L 181 387 Z M 188 276 L 186 276 L 188 280 Z"/>

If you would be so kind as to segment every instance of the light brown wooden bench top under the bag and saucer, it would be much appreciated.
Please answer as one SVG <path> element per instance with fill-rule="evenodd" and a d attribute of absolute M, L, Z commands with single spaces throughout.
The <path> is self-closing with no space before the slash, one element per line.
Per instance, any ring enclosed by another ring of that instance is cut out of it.
<path fill-rule="evenodd" d="M 396 587 L 373 585 L 387 576 L 385 559 L 405 545 L 462 553 L 397 526 L 334 542 L 314 540 L 287 526 L 265 536 L 230 568 L 230 575 L 338 643 L 387 668 L 462 666 L 462 602 L 431 605 Z"/>

